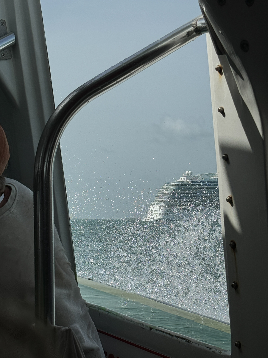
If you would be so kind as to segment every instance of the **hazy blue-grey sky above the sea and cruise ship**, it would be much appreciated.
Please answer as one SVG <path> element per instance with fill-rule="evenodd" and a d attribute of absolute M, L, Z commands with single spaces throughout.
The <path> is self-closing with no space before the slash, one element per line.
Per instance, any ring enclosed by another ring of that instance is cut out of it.
<path fill-rule="evenodd" d="M 197 0 L 41 0 L 56 106 L 201 13 Z M 205 35 L 89 103 L 61 140 L 71 218 L 146 215 L 165 181 L 216 171 Z"/>

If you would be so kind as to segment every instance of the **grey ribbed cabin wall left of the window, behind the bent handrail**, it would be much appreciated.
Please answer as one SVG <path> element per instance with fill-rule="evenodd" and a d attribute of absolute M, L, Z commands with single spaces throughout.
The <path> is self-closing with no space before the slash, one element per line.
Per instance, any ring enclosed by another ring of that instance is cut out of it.
<path fill-rule="evenodd" d="M 16 38 L 12 58 L 0 57 L 1 125 L 10 146 L 4 175 L 33 190 L 36 149 L 55 109 L 41 7 L 35 0 L 1 1 L 0 14 Z M 55 225 L 76 272 L 60 151 L 54 173 Z"/>

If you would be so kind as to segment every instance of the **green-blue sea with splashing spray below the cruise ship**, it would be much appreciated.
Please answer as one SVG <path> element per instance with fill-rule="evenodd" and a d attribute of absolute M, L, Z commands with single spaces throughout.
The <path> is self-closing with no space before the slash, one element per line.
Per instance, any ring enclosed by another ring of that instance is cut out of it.
<path fill-rule="evenodd" d="M 71 228 L 78 275 L 229 321 L 214 208 L 172 221 L 73 219 Z"/>

